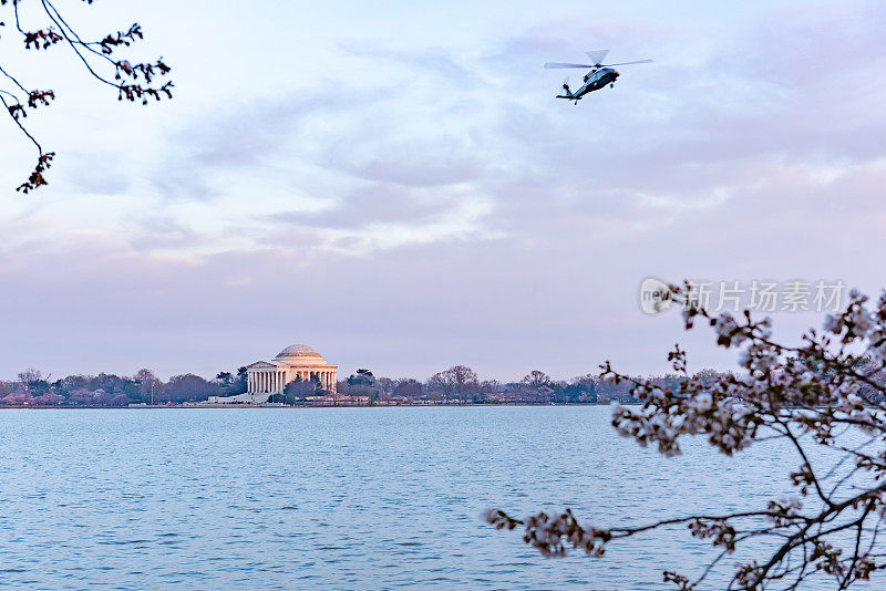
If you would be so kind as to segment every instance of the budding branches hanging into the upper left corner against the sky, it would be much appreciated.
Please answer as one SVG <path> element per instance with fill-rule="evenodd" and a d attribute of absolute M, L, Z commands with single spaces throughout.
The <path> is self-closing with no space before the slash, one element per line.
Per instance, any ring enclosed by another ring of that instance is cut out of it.
<path fill-rule="evenodd" d="M 87 4 L 93 2 L 83 1 Z M 172 98 L 172 81 L 167 80 L 163 84 L 157 81 L 171 70 L 162 58 L 153 63 L 131 63 L 119 59 L 116 54 L 122 48 L 144 38 L 138 23 L 132 24 L 125 31 L 109 33 L 102 39 L 84 40 L 55 8 L 54 0 L 0 0 L 0 7 L 9 10 L 7 17 L 12 17 L 16 33 L 21 37 L 25 51 L 48 51 L 55 45 L 66 45 L 90 75 L 116 89 L 119 101 L 141 101 L 142 104 L 147 104 L 148 98 Z M 29 22 L 30 19 L 25 19 L 22 7 L 31 7 L 28 17 L 34 21 Z M 0 27 L 6 27 L 6 21 L 0 22 Z M 38 152 L 34 170 L 17 189 L 28 193 L 47 184 L 44 173 L 52 166 L 55 153 L 43 149 L 40 142 L 25 128 L 24 118 L 28 117 L 29 108 L 48 106 L 55 98 L 55 92 L 27 86 L 22 79 L 10 73 L 4 65 L 7 64 L 0 62 L 0 80 L 7 81 L 6 86 L 0 86 L 0 102 Z"/>

